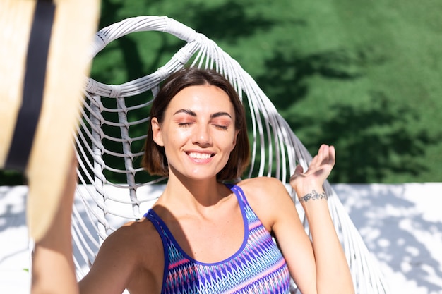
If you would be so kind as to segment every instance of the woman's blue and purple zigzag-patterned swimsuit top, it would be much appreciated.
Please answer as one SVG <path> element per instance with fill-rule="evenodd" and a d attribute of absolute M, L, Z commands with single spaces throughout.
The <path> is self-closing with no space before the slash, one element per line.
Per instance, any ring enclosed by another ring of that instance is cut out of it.
<path fill-rule="evenodd" d="M 153 209 L 145 214 L 160 233 L 165 250 L 162 294 L 289 293 L 289 270 L 280 250 L 241 188 L 228 187 L 237 195 L 246 234 L 241 248 L 222 262 L 206 264 L 192 259 Z"/>

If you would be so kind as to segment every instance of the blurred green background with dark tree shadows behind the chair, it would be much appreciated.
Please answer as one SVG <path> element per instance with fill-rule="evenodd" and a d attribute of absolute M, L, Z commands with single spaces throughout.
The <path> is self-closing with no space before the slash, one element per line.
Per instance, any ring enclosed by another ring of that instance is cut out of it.
<path fill-rule="evenodd" d="M 104 0 L 100 28 L 165 15 L 215 40 L 311 153 L 335 145 L 332 182 L 438 182 L 441 13 L 438 0 Z M 182 45 L 164 33 L 131 34 L 96 56 L 92 78 L 139 78 Z M 0 175 L 0 184 L 8 179 Z"/>

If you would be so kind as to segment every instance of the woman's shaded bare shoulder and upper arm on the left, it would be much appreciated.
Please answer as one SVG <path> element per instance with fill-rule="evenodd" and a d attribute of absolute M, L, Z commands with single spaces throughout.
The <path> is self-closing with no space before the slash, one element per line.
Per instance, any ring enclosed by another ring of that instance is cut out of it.
<path fill-rule="evenodd" d="M 163 258 L 153 223 L 147 219 L 126 223 L 104 240 L 88 275 L 80 281 L 81 293 L 115 293 L 124 288 L 131 293 L 143 293 L 143 288 L 159 292 Z"/>

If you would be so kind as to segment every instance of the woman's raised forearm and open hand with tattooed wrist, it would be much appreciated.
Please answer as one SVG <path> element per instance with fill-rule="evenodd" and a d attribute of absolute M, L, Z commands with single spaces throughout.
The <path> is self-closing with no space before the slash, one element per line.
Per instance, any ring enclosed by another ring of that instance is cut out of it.
<path fill-rule="evenodd" d="M 335 165 L 335 148 L 321 145 L 309 169 L 297 166 L 290 185 L 297 192 L 311 231 L 318 294 L 354 293 L 350 269 L 328 211 L 323 183 Z"/>

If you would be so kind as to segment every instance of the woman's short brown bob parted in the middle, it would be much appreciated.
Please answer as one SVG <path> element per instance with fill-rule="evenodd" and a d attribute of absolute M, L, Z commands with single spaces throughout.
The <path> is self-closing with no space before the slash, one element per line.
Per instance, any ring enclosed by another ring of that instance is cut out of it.
<path fill-rule="evenodd" d="M 235 180 L 239 178 L 249 165 L 250 149 L 249 137 L 247 136 L 246 114 L 244 106 L 239 99 L 237 92 L 229 81 L 217 71 L 200 68 L 183 68 L 181 71 L 172 74 L 162 86 L 157 97 L 153 100 L 150 109 L 150 118 L 156 117 L 158 123 L 162 123 L 165 110 L 169 102 L 186 87 L 195 85 L 213 85 L 223 90 L 234 106 L 235 130 L 239 130 L 237 144 L 230 153 L 229 160 L 225 167 L 217 173 L 217 180 Z M 151 125 L 148 128 L 148 137 L 145 140 L 143 156 L 143 167 L 151 174 L 167 176 L 169 166 L 164 147 L 153 141 Z"/>

